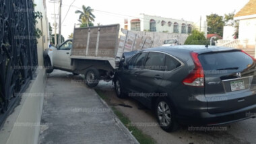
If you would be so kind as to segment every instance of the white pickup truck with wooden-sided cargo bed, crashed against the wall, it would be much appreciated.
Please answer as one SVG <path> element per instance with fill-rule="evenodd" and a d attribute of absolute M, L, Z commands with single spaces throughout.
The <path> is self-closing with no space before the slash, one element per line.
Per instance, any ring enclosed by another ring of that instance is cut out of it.
<path fill-rule="evenodd" d="M 89 87 L 95 87 L 100 80 L 110 81 L 123 52 L 150 48 L 153 43 L 148 36 L 128 30 L 121 30 L 121 34 L 119 28 L 119 24 L 74 28 L 73 39 L 44 50 L 46 72 L 61 69 L 85 75 Z"/>

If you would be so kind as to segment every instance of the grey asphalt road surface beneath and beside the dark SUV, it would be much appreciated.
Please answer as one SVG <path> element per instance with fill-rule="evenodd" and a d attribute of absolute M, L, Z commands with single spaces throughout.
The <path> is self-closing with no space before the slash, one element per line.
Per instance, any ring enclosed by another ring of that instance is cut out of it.
<path fill-rule="evenodd" d="M 141 109 L 138 102 L 131 98 L 125 100 L 117 98 L 111 82 L 106 83 L 102 81 L 95 89 L 104 93 L 109 106 L 115 106 L 115 108 L 123 112 L 143 133 L 150 135 L 158 143 L 256 143 L 256 118 L 223 125 L 214 129 L 208 129 L 207 131 L 205 131 L 207 127 L 203 129 L 181 127 L 177 132 L 166 133 L 156 125 L 156 118 L 150 110 Z M 129 105 L 132 108 L 119 106 L 119 104 Z"/>

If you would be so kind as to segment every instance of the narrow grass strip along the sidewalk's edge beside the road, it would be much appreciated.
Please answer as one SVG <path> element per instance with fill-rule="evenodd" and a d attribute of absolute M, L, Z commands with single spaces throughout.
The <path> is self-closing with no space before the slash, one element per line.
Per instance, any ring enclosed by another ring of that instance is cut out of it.
<path fill-rule="evenodd" d="M 102 98 L 102 100 L 105 100 L 105 102 L 108 101 L 108 98 L 104 95 L 104 93 L 102 91 L 100 91 L 100 89 L 95 89 L 95 91 L 96 91 L 96 93 L 98 93 L 100 98 Z M 139 130 L 139 129 L 137 129 L 137 127 L 133 126 L 131 124 L 131 120 L 129 120 L 129 118 L 127 118 L 127 116 L 125 116 L 122 112 L 117 110 L 117 108 L 115 108 L 114 106 L 112 106 L 111 108 L 112 108 L 113 112 L 117 115 L 119 120 L 121 120 L 121 122 L 125 125 L 125 127 L 127 127 L 127 129 L 129 129 L 129 131 L 132 131 L 131 134 L 137 139 L 137 141 L 139 141 L 139 143 L 141 143 L 141 144 L 156 143 L 156 141 L 154 141 L 154 139 L 152 139 L 152 137 L 150 137 L 149 135 L 143 134 L 143 132 L 141 130 Z"/>

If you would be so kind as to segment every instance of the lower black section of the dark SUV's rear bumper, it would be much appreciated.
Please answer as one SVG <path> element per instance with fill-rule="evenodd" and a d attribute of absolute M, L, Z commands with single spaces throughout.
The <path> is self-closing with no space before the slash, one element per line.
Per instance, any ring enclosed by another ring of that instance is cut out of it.
<path fill-rule="evenodd" d="M 193 116 L 176 116 L 177 121 L 181 124 L 192 124 L 200 126 L 215 126 L 220 124 L 228 124 L 255 117 L 256 104 L 238 110 L 232 110 L 229 112 L 222 112 L 216 114 L 210 114 L 209 112 L 200 112 L 197 114 L 193 114 Z"/>

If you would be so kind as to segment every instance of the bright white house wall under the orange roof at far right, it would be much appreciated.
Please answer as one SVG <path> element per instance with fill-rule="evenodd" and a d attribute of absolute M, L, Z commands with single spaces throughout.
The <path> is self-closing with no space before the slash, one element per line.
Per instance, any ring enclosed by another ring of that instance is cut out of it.
<path fill-rule="evenodd" d="M 256 41 L 256 17 L 239 21 L 239 40 L 248 41 L 248 45 L 254 45 Z"/>

